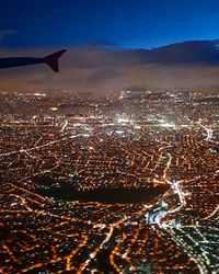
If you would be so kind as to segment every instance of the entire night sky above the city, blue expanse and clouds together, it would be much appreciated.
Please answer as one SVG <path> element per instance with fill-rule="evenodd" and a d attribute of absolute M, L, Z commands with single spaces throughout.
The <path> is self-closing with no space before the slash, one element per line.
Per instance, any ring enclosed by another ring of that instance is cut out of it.
<path fill-rule="evenodd" d="M 218 0 L 2 0 L 0 11 L 0 57 L 68 49 L 60 75 L 1 70 L 0 89 L 219 87 Z"/>

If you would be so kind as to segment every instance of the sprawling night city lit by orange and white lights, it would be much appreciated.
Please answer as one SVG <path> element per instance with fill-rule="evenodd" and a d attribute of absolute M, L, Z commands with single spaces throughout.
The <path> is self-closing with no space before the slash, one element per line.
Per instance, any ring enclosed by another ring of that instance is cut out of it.
<path fill-rule="evenodd" d="M 214 92 L 0 91 L 0 273 L 219 273 Z"/>

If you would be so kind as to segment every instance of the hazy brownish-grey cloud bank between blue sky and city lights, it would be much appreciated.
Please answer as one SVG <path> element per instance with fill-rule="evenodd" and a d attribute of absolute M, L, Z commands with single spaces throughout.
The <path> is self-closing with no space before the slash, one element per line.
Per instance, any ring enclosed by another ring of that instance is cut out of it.
<path fill-rule="evenodd" d="M 60 59 L 60 73 L 45 65 L 0 70 L 0 89 L 110 91 L 147 89 L 218 89 L 218 41 L 173 44 L 152 49 L 71 48 Z M 0 56 L 44 56 L 51 49 L 0 50 Z"/>

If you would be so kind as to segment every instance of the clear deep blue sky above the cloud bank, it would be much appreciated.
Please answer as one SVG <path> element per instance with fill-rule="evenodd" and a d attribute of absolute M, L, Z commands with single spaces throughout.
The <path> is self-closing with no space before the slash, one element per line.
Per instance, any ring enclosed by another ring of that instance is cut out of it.
<path fill-rule="evenodd" d="M 218 0 L 1 0 L 0 11 L 1 48 L 219 38 Z"/>

